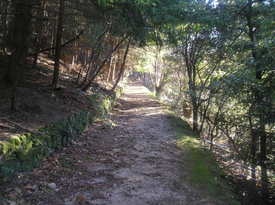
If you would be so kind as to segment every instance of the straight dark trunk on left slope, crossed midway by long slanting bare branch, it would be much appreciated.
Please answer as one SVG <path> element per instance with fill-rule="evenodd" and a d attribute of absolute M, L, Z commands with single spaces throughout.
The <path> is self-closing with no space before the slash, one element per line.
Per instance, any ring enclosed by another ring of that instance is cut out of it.
<path fill-rule="evenodd" d="M 52 88 L 58 87 L 59 81 L 59 64 L 60 64 L 60 56 L 61 56 L 61 40 L 62 40 L 62 30 L 63 30 L 63 17 L 64 17 L 64 6 L 65 0 L 60 0 L 59 5 L 59 16 L 58 16 L 58 24 L 57 24 L 57 33 L 56 33 L 56 49 L 55 49 L 55 56 L 54 56 L 54 70 L 53 70 L 53 77 L 52 77 Z"/>

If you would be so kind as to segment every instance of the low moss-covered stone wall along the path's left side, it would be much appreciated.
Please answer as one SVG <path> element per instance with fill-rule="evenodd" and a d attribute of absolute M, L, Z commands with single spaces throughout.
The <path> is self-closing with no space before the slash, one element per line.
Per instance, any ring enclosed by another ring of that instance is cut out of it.
<path fill-rule="evenodd" d="M 92 100 L 94 110 L 83 109 L 39 128 L 42 135 L 24 133 L 0 142 L 0 183 L 8 182 L 14 175 L 39 166 L 44 158 L 62 149 L 91 123 L 109 114 L 122 90 L 123 87 L 117 89 L 114 95 L 99 99 L 98 104 L 94 104 Z"/>

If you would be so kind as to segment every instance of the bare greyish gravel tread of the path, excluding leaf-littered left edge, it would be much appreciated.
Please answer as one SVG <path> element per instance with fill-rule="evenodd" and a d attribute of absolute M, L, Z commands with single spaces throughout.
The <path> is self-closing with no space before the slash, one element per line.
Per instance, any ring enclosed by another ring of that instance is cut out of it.
<path fill-rule="evenodd" d="M 95 139 L 89 150 L 95 160 L 74 165 L 82 175 L 54 198 L 65 204 L 79 195 L 91 204 L 186 204 L 184 158 L 173 146 L 176 133 L 166 111 L 141 82 L 130 83 L 118 103 L 114 129 L 86 134 Z"/>

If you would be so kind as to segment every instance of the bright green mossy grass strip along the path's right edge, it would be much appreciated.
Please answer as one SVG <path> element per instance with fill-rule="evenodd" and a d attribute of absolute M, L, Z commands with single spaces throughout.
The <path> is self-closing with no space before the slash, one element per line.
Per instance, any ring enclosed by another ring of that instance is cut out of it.
<path fill-rule="evenodd" d="M 169 117 L 177 130 L 175 145 L 184 150 L 187 157 L 188 172 L 183 179 L 201 190 L 202 197 L 209 197 L 216 204 L 240 205 L 212 153 L 196 139 L 190 125 L 172 113 Z"/>

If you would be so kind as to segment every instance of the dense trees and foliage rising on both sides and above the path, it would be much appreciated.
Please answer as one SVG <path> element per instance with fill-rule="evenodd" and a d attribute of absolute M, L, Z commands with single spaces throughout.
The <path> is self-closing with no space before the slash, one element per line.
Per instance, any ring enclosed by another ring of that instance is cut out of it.
<path fill-rule="evenodd" d="M 274 0 L 1 0 L 0 126 L 23 109 L 21 88 L 111 93 L 134 73 L 188 121 L 244 204 L 271 204 L 274 36 Z"/>

